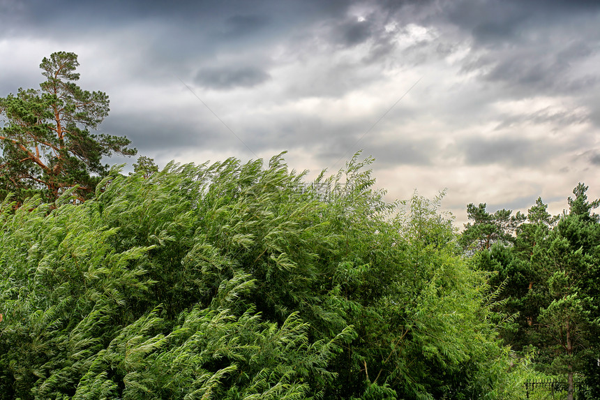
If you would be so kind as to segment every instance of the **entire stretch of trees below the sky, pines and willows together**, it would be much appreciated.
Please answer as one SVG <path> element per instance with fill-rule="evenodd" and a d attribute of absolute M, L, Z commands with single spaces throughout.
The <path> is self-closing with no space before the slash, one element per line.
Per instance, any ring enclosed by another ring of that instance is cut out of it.
<path fill-rule="evenodd" d="M 312 180 L 285 154 L 126 174 L 77 66 L 0 98 L 0 399 L 600 398 L 585 184 L 558 216 L 470 204 L 459 232 L 361 154 Z"/>

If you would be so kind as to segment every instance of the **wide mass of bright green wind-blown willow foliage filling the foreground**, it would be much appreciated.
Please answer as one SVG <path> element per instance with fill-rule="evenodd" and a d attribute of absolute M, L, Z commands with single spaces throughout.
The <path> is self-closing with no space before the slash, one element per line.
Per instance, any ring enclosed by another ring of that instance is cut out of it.
<path fill-rule="evenodd" d="M 1 205 L 0 399 L 518 399 L 485 272 L 439 199 L 356 158 L 112 170 Z M 526 360 L 525 360 L 526 361 Z"/>

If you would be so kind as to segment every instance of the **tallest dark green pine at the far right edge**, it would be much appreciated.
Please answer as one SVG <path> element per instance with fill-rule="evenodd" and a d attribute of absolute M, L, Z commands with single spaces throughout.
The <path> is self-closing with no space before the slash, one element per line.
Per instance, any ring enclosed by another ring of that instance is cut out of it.
<path fill-rule="evenodd" d="M 600 223 L 592 210 L 599 200 L 587 200 L 587 186 L 578 184 L 543 251 L 540 265 L 548 271 L 546 287 L 550 304 L 540 310 L 539 334 L 546 369 L 567 376 L 569 399 L 573 376 L 585 373 L 590 358 L 598 358 L 600 294 Z"/>

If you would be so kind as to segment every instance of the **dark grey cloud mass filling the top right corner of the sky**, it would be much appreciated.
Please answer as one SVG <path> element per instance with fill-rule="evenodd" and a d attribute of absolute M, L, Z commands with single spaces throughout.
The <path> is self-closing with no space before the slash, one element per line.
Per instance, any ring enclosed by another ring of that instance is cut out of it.
<path fill-rule="evenodd" d="M 468 43 L 463 71 L 499 85 L 498 95 L 575 94 L 595 87 L 600 1 L 438 2 L 412 17 L 440 29 L 441 43 Z"/>

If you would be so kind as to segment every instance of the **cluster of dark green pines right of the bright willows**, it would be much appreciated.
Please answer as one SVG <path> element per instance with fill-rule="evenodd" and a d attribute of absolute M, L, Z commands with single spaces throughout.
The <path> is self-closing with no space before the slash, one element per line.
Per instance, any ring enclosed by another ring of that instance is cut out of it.
<path fill-rule="evenodd" d="M 501 329 L 504 343 L 534 349 L 544 373 L 569 383 L 583 376 L 600 397 L 600 218 L 592 212 L 599 201 L 589 202 L 586 191 L 578 184 L 560 216 L 548 214 L 539 198 L 511 242 L 483 249 L 474 260 L 501 288 L 497 311 L 516 315 Z"/>

